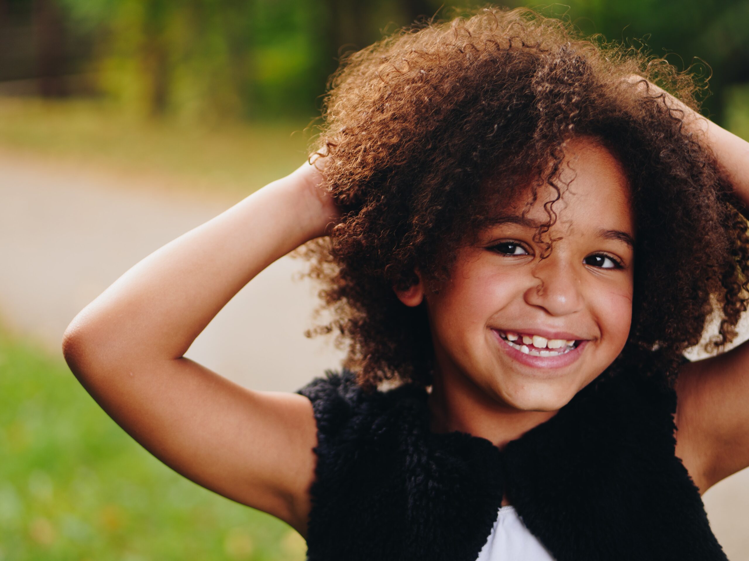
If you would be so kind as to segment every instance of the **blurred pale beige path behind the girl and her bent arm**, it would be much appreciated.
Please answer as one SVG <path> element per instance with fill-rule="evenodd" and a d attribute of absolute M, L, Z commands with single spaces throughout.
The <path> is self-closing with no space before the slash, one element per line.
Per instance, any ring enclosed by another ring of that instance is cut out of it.
<path fill-rule="evenodd" d="M 73 316 L 130 266 L 239 200 L 2 152 L 0 168 L 0 316 L 53 353 Z M 341 352 L 303 337 L 315 298 L 309 281 L 291 280 L 302 266 L 285 257 L 261 272 L 186 356 L 257 390 L 293 391 L 338 367 Z M 730 560 L 749 561 L 749 470 L 703 498 Z"/>

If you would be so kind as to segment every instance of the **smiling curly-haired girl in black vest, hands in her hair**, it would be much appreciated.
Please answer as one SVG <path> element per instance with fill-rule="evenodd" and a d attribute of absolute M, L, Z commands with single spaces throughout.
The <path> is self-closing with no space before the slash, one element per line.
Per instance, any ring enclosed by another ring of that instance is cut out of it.
<path fill-rule="evenodd" d="M 749 144 L 696 89 L 530 10 L 395 34 L 337 74 L 312 163 L 126 272 L 65 358 L 309 560 L 726 559 L 700 495 L 749 465 L 749 346 L 682 353 L 746 309 Z M 300 246 L 342 370 L 258 392 L 184 358 Z"/>

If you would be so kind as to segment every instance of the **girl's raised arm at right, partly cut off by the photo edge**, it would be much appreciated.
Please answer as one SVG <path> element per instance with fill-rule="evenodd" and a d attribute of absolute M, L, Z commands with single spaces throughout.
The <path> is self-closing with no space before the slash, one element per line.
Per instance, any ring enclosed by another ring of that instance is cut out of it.
<path fill-rule="evenodd" d="M 644 79 L 631 77 L 644 88 Z M 685 126 L 705 143 L 749 207 L 749 142 L 697 114 L 669 93 L 664 102 L 684 111 Z M 652 95 L 652 93 L 651 93 Z M 700 493 L 749 466 L 749 341 L 715 357 L 687 363 L 676 383 L 676 456 Z"/>

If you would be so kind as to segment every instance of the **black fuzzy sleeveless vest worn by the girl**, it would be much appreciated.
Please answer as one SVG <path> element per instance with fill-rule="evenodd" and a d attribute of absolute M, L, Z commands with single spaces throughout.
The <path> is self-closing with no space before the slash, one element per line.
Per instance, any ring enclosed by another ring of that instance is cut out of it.
<path fill-rule="evenodd" d="M 309 561 L 476 561 L 504 491 L 557 561 L 727 559 L 674 454 L 676 393 L 650 381 L 589 384 L 503 451 L 431 432 L 413 384 L 327 370 L 297 393 L 318 425 Z"/>

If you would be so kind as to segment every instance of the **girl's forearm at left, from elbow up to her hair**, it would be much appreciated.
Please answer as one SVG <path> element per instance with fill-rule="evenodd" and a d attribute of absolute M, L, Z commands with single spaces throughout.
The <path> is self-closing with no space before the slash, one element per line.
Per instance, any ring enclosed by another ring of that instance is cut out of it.
<path fill-rule="evenodd" d="M 145 257 L 65 332 L 108 361 L 180 358 L 219 310 L 279 257 L 333 221 L 306 164 Z"/>

